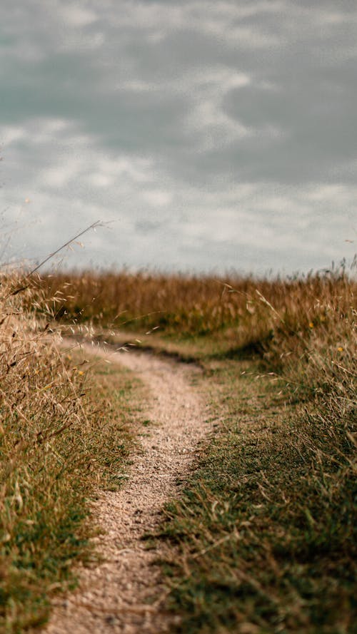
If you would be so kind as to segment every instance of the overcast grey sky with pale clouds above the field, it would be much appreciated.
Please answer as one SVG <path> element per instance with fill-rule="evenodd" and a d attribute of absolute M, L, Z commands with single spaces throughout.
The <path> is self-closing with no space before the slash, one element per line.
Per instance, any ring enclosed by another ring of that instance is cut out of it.
<path fill-rule="evenodd" d="M 355 0 L 1 0 L 0 16 L 1 264 L 97 220 L 62 267 L 353 258 Z"/>

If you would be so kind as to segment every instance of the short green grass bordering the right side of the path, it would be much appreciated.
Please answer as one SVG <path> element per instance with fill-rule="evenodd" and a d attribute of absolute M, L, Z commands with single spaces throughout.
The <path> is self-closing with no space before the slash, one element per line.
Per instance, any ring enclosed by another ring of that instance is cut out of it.
<path fill-rule="evenodd" d="M 177 631 L 353 632 L 353 442 L 257 372 L 216 362 L 204 379 L 223 422 L 161 535 Z"/>

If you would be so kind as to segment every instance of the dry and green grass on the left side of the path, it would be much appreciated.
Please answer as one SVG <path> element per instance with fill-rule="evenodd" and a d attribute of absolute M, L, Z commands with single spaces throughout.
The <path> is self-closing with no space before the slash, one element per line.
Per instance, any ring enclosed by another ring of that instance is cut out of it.
<path fill-rule="evenodd" d="M 63 351 L 21 285 L 1 278 L 0 631 L 9 634 L 45 623 L 51 595 L 76 583 L 74 564 L 94 560 L 91 499 L 121 485 L 142 390 L 124 370 Z"/>

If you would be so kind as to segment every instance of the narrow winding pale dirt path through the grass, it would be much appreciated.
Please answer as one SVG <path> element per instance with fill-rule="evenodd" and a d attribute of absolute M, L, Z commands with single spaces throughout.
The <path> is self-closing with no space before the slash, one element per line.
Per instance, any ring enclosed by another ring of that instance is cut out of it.
<path fill-rule="evenodd" d="M 81 571 L 80 588 L 59 600 L 44 633 L 169 632 L 165 588 L 153 563 L 161 552 L 146 550 L 141 537 L 158 526 L 162 506 L 178 494 L 177 479 L 188 473 L 200 441 L 211 431 L 206 407 L 190 384 L 200 370 L 142 352 L 98 349 L 97 354 L 119 360 L 149 385 L 152 400 L 145 414 L 154 424 L 133 458 L 124 489 L 104 492 L 96 503 L 106 531 L 97 538 L 104 563 Z"/>

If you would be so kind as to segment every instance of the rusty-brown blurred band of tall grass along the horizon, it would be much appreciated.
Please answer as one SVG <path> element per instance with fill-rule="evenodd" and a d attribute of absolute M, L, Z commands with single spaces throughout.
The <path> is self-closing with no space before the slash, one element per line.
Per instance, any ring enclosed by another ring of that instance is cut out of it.
<path fill-rule="evenodd" d="M 313 329 L 333 332 L 357 288 L 343 268 L 291 280 L 89 271 L 48 275 L 41 285 L 56 297 L 54 312 L 62 322 L 157 328 L 176 339 L 209 336 L 237 349 L 261 349 L 273 335 L 298 340 Z"/>

